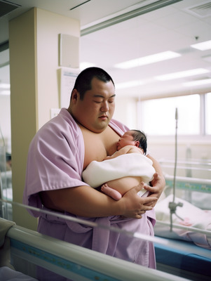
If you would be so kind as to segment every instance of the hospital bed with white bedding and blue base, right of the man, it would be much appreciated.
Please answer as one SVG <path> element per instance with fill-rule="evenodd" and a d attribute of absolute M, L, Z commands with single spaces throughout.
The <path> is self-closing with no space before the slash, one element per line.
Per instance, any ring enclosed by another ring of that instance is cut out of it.
<path fill-rule="evenodd" d="M 155 244 L 157 268 L 191 280 L 210 280 L 211 161 L 180 160 L 176 179 L 174 161 L 162 159 L 160 163 L 166 187 L 155 207 L 154 230 L 169 244 Z M 173 201 L 176 208 L 171 214 Z"/>

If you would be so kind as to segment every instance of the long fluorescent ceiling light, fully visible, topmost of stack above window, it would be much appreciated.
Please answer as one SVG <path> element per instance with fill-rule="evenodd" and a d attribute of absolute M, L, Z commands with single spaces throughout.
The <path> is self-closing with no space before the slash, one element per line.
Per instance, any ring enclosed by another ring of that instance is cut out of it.
<path fill-rule="evenodd" d="M 154 55 L 147 55 L 146 57 L 142 57 L 142 58 L 135 58 L 135 60 L 128 60 L 125 61 L 124 63 L 118 63 L 114 65 L 114 67 L 125 70 L 128 68 L 137 67 L 141 65 L 149 65 L 150 63 L 158 63 L 159 61 L 162 60 L 170 60 L 170 58 L 177 58 L 179 56 L 181 56 L 179 53 L 166 51 L 163 53 L 155 53 Z"/>

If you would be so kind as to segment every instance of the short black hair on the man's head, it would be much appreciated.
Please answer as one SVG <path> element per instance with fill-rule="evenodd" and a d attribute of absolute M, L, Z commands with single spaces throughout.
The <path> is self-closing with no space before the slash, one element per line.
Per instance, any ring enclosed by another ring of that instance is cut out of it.
<path fill-rule="evenodd" d="M 92 89 L 91 82 L 94 77 L 105 83 L 111 81 L 114 84 L 111 76 L 106 71 L 102 70 L 102 68 L 88 67 L 79 74 L 74 84 L 74 89 L 80 93 L 80 100 L 83 100 L 86 91 Z"/>

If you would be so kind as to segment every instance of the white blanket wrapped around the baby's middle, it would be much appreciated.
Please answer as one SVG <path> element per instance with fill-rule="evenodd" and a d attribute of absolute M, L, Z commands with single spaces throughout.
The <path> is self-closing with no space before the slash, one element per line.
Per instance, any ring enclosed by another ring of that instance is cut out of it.
<path fill-rule="evenodd" d="M 125 176 L 141 176 L 142 181 L 149 183 L 155 169 L 151 159 L 139 153 L 120 155 L 102 162 L 93 161 L 83 171 L 83 180 L 93 188 Z"/>

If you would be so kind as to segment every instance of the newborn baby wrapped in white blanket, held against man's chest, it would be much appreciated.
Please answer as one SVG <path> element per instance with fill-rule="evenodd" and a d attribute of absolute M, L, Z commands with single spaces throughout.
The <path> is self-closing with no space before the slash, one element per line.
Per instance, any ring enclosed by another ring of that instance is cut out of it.
<path fill-rule="evenodd" d="M 114 200 L 120 200 L 130 188 L 142 181 L 151 181 L 155 170 L 151 160 L 144 156 L 147 152 L 147 137 L 141 131 L 125 132 L 116 148 L 114 155 L 107 156 L 105 161 L 91 162 L 83 171 L 83 179 L 93 188 L 102 185 L 102 192 Z M 142 196 L 145 192 L 143 188 L 138 195 Z"/>

